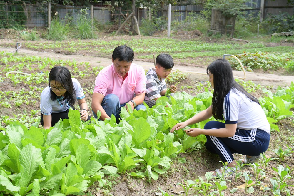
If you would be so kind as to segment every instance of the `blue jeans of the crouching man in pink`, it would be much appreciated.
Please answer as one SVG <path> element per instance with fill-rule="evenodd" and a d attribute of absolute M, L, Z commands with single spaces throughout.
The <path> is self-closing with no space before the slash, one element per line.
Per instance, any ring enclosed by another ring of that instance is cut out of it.
<path fill-rule="evenodd" d="M 101 103 L 102 108 L 105 110 L 108 116 L 113 114 L 116 118 L 116 122 L 119 122 L 119 113 L 121 112 L 121 107 L 124 107 L 126 103 L 119 104 L 119 98 L 115 94 L 106 95 Z M 146 110 L 145 105 L 140 104 L 135 107 L 136 110 L 144 109 Z M 93 112 L 94 117 L 97 118 L 97 115 Z"/>

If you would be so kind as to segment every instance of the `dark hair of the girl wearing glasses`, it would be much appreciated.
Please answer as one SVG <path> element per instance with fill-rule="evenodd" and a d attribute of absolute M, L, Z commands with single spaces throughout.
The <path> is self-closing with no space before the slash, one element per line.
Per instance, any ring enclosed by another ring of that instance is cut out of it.
<path fill-rule="evenodd" d="M 71 73 L 66 67 L 56 66 L 51 69 L 49 73 L 49 85 L 50 81 L 54 80 L 55 83 L 61 84 L 66 88 L 63 100 L 67 100 L 70 106 L 74 106 L 76 102 L 76 90 L 74 89 L 74 84 L 71 80 Z M 56 99 L 56 94 L 50 89 L 50 98 L 52 101 Z"/>

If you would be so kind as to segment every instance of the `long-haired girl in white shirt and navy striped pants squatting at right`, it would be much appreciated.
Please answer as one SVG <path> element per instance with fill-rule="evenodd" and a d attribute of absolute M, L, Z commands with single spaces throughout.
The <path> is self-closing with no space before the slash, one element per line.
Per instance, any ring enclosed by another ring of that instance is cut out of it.
<path fill-rule="evenodd" d="M 268 149 L 270 125 L 257 98 L 245 91 L 233 78 L 232 68 L 227 60 L 214 61 L 206 71 L 214 89 L 211 106 L 185 122 L 176 124 L 171 132 L 211 116 L 225 121 L 209 121 L 204 129 L 192 128 L 185 132 L 193 137 L 206 135 L 206 148 L 228 163 L 224 170 L 216 170 L 215 176 L 223 171 L 232 174 L 237 169 L 233 153 L 246 155 L 242 163 L 254 163 L 260 153 Z"/>

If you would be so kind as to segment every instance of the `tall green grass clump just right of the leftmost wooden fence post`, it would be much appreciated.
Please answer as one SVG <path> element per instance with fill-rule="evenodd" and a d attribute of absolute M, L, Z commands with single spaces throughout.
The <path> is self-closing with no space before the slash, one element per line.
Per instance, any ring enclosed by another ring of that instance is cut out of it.
<path fill-rule="evenodd" d="M 58 17 L 51 21 L 47 39 L 49 40 L 66 40 L 69 36 L 71 28 L 65 21 L 59 20 Z"/>

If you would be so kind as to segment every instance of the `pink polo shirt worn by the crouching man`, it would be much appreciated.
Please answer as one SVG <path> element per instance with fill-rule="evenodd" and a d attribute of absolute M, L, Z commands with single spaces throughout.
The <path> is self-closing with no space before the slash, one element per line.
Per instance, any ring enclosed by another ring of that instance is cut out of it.
<path fill-rule="evenodd" d="M 127 103 L 134 98 L 134 94 L 146 92 L 145 71 L 141 66 L 131 64 L 128 76 L 118 75 L 113 67 L 113 63 L 103 68 L 95 80 L 94 93 L 104 96 L 115 94 L 118 96 L 120 104 Z"/>

